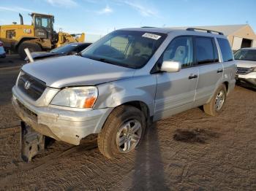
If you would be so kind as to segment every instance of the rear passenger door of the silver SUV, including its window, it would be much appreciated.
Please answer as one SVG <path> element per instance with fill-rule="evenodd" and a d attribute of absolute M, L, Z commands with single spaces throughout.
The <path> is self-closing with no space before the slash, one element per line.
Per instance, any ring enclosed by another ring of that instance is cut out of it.
<path fill-rule="evenodd" d="M 219 81 L 222 81 L 223 65 L 219 62 L 219 53 L 213 37 L 196 36 L 195 55 L 199 79 L 194 106 L 200 106 L 206 104 Z"/>

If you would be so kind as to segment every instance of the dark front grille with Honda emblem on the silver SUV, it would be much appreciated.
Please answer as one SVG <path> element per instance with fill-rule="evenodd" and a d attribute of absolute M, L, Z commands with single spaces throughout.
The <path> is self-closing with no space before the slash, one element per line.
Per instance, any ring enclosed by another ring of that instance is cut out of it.
<path fill-rule="evenodd" d="M 18 79 L 18 87 L 23 93 L 28 95 L 34 101 L 37 101 L 45 91 L 46 85 L 45 82 L 21 71 Z"/>

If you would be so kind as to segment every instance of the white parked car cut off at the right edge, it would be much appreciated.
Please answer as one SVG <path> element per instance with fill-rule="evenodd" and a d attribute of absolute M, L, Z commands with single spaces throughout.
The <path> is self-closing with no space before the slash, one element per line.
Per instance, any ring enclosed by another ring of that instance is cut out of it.
<path fill-rule="evenodd" d="M 242 48 L 234 53 L 238 82 L 256 87 L 256 48 Z"/>

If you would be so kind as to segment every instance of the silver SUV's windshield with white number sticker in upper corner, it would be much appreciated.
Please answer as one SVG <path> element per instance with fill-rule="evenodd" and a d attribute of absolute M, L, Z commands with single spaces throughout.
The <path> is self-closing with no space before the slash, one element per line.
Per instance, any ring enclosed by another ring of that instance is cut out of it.
<path fill-rule="evenodd" d="M 145 31 L 113 31 L 91 44 L 81 55 L 105 63 L 140 69 L 154 55 L 166 36 Z"/>

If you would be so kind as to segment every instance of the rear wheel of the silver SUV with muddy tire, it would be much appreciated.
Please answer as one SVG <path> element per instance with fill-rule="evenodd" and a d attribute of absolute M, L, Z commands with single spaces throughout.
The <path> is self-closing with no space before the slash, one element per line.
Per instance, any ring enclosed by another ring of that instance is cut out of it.
<path fill-rule="evenodd" d="M 223 95 L 222 98 L 219 97 L 221 93 Z M 217 96 L 218 96 L 218 100 L 217 100 Z M 208 104 L 203 105 L 204 112 L 206 112 L 206 114 L 209 114 L 211 116 L 217 116 L 217 114 L 222 112 L 222 108 L 226 102 L 226 98 L 227 98 L 227 89 L 225 85 L 222 84 L 214 93 L 214 96 L 211 98 L 211 101 Z M 217 104 L 219 104 L 219 106 L 217 106 Z"/>

